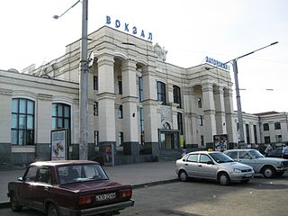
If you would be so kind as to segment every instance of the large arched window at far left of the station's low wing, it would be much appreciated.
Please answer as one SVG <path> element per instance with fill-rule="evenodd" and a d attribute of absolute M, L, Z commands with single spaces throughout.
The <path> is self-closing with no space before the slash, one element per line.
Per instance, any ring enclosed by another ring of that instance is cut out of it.
<path fill-rule="evenodd" d="M 12 100 L 11 143 L 14 145 L 34 145 L 33 101 L 25 98 Z"/>

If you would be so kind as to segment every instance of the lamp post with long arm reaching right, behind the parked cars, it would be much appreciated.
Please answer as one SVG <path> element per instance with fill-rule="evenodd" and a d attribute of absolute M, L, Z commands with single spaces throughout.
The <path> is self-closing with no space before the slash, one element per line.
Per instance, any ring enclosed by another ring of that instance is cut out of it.
<path fill-rule="evenodd" d="M 237 112 L 238 112 L 238 129 L 239 129 L 239 133 L 240 133 L 240 140 L 239 140 L 239 147 L 238 148 L 246 148 L 246 144 L 245 144 L 245 137 L 244 137 L 244 126 L 243 126 L 243 113 L 242 113 L 242 108 L 241 108 L 241 99 L 240 99 L 240 93 L 239 93 L 239 85 L 238 85 L 238 66 L 237 66 L 237 60 L 239 58 L 243 58 L 246 57 L 248 55 L 251 55 L 255 52 L 257 52 L 258 50 L 261 49 L 266 49 L 267 47 L 273 46 L 275 45 L 276 42 L 273 42 L 263 48 L 260 49 L 256 49 L 254 51 L 251 51 L 243 56 L 240 56 L 238 58 L 234 58 L 232 60 L 230 60 L 229 62 L 232 62 L 233 65 L 233 72 L 234 72 L 234 79 L 235 79 L 235 88 L 236 88 L 236 102 L 237 102 Z"/>

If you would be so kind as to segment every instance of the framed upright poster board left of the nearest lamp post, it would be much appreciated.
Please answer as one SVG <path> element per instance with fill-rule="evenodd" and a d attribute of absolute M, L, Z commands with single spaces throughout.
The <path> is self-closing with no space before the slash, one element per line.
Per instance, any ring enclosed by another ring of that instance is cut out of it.
<path fill-rule="evenodd" d="M 51 160 L 66 160 L 68 156 L 67 129 L 51 130 Z"/>

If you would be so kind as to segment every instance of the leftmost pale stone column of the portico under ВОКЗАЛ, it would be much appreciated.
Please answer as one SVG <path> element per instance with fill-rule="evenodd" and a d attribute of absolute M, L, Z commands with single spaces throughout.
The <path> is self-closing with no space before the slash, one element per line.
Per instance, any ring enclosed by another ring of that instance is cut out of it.
<path fill-rule="evenodd" d="M 105 146 L 116 151 L 114 59 L 112 55 L 98 57 L 98 104 L 99 104 L 99 150 L 104 154 Z"/>

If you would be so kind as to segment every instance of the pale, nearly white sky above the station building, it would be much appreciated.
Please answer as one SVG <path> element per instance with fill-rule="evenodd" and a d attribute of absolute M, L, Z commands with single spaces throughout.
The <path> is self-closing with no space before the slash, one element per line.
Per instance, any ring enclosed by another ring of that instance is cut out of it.
<path fill-rule="evenodd" d="M 21 71 L 64 55 L 65 46 L 81 37 L 82 5 L 58 20 L 52 16 L 75 3 L 1 1 L 0 69 Z M 238 60 L 239 87 L 247 89 L 240 95 L 243 112 L 288 112 L 287 8 L 286 0 L 89 0 L 88 32 L 103 26 L 110 15 L 152 32 L 153 43 L 168 51 L 166 62 L 179 67 L 202 64 L 206 56 L 226 62 L 279 41 Z M 234 82 L 232 70 L 231 77 Z"/>

